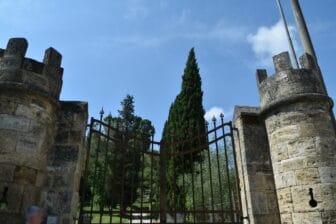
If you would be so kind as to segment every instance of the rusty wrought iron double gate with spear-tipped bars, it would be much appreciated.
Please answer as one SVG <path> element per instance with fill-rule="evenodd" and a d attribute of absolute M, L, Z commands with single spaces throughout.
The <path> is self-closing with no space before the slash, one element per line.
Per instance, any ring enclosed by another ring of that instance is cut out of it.
<path fill-rule="evenodd" d="M 103 114 L 91 118 L 78 223 L 242 223 L 232 131 L 221 116 L 207 133 L 168 145 Z M 203 137 L 187 151 L 166 150 Z M 188 157 L 183 172 L 177 163 Z"/>

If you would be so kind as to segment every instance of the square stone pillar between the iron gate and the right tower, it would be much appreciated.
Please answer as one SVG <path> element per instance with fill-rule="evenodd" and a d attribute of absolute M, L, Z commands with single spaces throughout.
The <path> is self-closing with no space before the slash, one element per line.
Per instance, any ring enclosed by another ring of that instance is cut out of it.
<path fill-rule="evenodd" d="M 256 107 L 235 107 L 235 149 L 244 223 L 280 223 L 264 122 Z"/>

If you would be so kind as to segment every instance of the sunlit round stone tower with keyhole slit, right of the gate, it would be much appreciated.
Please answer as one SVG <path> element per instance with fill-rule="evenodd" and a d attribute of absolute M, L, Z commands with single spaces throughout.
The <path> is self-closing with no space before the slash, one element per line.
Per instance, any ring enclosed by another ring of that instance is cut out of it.
<path fill-rule="evenodd" d="M 258 70 L 257 82 L 281 223 L 336 223 L 333 101 L 310 55 L 300 58 L 300 69 L 287 52 L 273 61 L 275 74 Z"/>

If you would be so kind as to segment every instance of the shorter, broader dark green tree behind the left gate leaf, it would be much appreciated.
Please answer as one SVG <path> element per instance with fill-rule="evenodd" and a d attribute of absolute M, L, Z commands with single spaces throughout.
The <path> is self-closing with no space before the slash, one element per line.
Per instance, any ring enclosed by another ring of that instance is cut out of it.
<path fill-rule="evenodd" d="M 141 155 L 150 148 L 154 127 L 151 121 L 134 115 L 133 96 L 125 97 L 118 113 L 119 117 L 108 115 L 104 118 L 109 126 L 104 126 L 101 132 L 108 137 L 92 138 L 97 151 L 92 151 L 91 161 L 97 162 L 91 166 L 89 180 L 91 186 L 95 186 L 94 201 L 101 209 L 119 205 L 121 211 L 125 211 L 139 196 L 139 173 L 144 168 Z"/>

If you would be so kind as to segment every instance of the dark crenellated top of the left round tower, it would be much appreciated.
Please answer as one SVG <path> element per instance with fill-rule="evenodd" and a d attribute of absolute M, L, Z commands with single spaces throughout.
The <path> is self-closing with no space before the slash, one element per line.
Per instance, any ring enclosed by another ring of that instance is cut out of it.
<path fill-rule="evenodd" d="M 0 86 L 21 88 L 59 99 L 62 87 L 62 55 L 53 48 L 45 51 L 43 62 L 25 58 L 28 42 L 11 38 L 0 49 Z"/>

